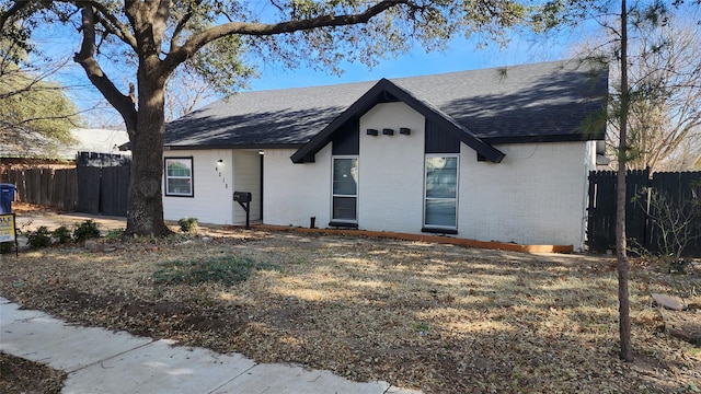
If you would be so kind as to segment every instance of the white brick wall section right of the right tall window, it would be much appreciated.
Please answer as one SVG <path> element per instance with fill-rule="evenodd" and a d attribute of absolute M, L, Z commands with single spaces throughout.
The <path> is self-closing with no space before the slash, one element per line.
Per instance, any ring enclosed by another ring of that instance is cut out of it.
<path fill-rule="evenodd" d="M 499 164 L 478 162 L 463 146 L 460 236 L 582 250 L 591 144 L 495 146 L 506 154 Z"/>

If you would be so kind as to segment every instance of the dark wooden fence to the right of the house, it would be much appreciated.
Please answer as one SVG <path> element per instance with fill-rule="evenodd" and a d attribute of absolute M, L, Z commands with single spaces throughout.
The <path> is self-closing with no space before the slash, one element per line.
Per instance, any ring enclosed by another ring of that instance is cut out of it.
<path fill-rule="evenodd" d="M 589 173 L 587 246 L 593 253 L 616 250 L 617 172 Z M 683 256 L 701 256 L 701 172 L 654 173 L 650 170 L 629 171 L 625 175 L 625 235 L 632 248 L 666 253 L 662 229 L 668 231 L 683 219 L 683 230 L 677 229 L 688 244 Z M 662 199 L 660 199 L 662 198 Z M 663 200 L 664 199 L 664 200 Z M 676 217 L 676 218 L 675 218 Z M 679 222 L 679 220 L 677 220 Z M 678 237 L 679 237 L 678 236 Z"/>

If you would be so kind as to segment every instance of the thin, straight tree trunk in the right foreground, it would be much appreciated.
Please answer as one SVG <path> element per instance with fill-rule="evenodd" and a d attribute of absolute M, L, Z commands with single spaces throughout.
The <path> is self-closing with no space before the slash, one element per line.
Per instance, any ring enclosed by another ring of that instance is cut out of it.
<path fill-rule="evenodd" d="M 618 302 L 619 334 L 622 360 L 633 360 L 631 344 L 630 298 L 628 291 L 628 254 L 625 244 L 625 162 L 628 158 L 628 111 L 630 92 L 628 91 L 628 10 L 625 0 L 621 0 L 621 114 L 620 140 L 618 144 L 618 177 L 616 189 L 616 257 L 618 259 Z"/>

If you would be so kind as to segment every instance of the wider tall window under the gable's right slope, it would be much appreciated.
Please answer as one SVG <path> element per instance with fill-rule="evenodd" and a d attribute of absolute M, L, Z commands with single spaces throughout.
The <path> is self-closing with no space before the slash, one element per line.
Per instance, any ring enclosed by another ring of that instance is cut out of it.
<path fill-rule="evenodd" d="M 458 227 L 458 157 L 426 157 L 424 225 Z"/>

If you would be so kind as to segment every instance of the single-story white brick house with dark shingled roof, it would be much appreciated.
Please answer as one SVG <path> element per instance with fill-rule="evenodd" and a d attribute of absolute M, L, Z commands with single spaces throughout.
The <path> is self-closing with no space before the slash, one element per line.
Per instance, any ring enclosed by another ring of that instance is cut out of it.
<path fill-rule="evenodd" d="M 235 94 L 166 125 L 164 217 L 583 250 L 607 93 L 565 60 Z"/>

